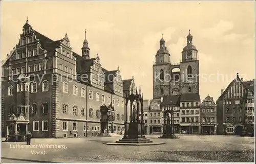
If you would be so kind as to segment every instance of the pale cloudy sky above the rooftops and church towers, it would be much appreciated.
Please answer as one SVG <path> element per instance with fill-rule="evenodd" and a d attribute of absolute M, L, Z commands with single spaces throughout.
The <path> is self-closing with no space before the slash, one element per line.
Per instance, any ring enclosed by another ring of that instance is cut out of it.
<path fill-rule="evenodd" d="M 179 63 L 188 30 L 198 49 L 201 101 L 216 101 L 240 74 L 255 78 L 254 2 L 2 2 L 1 57 L 18 43 L 28 17 L 32 28 L 58 40 L 68 34 L 81 54 L 84 31 L 91 58 L 109 71 L 135 78 L 144 99 L 153 99 L 153 64 L 161 34 L 170 61 Z M 218 78 L 219 77 L 219 78 Z"/>

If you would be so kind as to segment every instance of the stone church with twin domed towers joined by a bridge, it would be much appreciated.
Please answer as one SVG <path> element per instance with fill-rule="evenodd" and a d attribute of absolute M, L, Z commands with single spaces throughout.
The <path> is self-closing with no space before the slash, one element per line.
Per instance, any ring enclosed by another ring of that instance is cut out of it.
<path fill-rule="evenodd" d="M 199 59 L 198 50 L 193 45 L 193 36 L 187 35 L 182 60 L 173 64 L 172 56 L 165 46 L 163 36 L 153 65 L 153 98 L 164 96 L 199 97 Z M 177 71 L 178 70 L 178 71 Z"/>

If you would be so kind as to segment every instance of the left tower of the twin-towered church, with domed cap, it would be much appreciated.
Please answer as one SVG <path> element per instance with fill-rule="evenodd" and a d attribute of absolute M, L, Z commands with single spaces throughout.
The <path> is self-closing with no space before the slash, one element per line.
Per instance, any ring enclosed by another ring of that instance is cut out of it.
<path fill-rule="evenodd" d="M 162 38 L 160 49 L 156 53 L 156 62 L 153 65 L 153 98 L 160 99 L 164 95 L 169 95 L 170 87 L 170 54 L 165 46 L 165 40 Z"/>

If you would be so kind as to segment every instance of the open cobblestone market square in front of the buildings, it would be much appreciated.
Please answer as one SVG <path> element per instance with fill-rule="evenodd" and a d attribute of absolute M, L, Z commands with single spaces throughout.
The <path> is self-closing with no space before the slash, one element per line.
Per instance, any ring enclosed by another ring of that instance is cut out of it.
<path fill-rule="evenodd" d="M 146 137 L 153 142 L 161 141 L 166 144 L 158 146 L 102 144 L 115 142 L 121 137 L 32 139 L 32 148 L 22 148 L 26 145 L 25 142 L 2 142 L 2 162 L 253 162 L 254 159 L 253 137 L 200 135 L 180 135 L 179 139 L 159 139 L 157 135 Z"/>

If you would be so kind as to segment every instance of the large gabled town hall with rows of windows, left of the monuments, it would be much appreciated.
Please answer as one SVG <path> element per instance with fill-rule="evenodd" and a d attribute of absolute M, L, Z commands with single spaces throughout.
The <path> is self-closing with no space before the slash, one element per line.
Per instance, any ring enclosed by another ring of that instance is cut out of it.
<path fill-rule="evenodd" d="M 101 129 L 100 106 L 105 104 L 115 110 L 109 130 L 120 134 L 125 93 L 131 93 L 132 87 L 136 90 L 134 77 L 123 80 L 118 66 L 109 71 L 102 67 L 98 54 L 92 56 L 87 38 L 78 55 L 67 34 L 52 40 L 27 20 L 18 44 L 2 65 L 2 133 L 95 136 Z M 26 124 L 15 120 L 26 121 L 27 131 Z"/>

